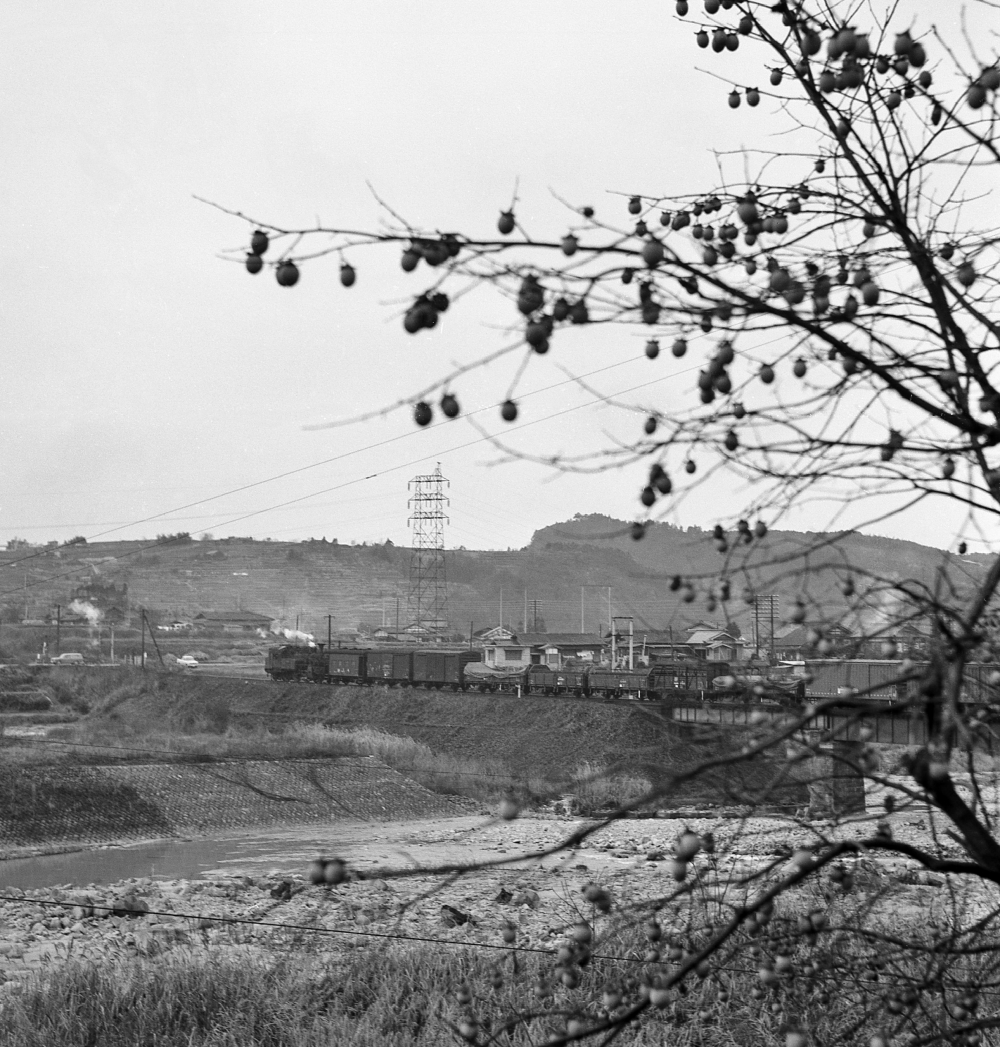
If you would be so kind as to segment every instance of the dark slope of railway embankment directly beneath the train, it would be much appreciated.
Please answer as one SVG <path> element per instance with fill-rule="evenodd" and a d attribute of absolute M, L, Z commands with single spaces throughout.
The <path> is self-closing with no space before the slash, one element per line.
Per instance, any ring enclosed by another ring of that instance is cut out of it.
<path fill-rule="evenodd" d="M 455 759 L 498 761 L 532 782 L 569 780 L 581 764 L 644 778 L 653 785 L 716 763 L 665 797 L 667 805 L 807 803 L 786 779 L 783 760 L 719 763 L 737 753 L 746 729 L 679 725 L 655 705 L 584 698 L 376 687 L 328 687 L 207 676 L 161 677 L 114 710 L 135 720 L 197 725 L 206 718 L 244 727 L 305 721 L 372 728 L 412 738 Z M 776 785 L 776 782 L 780 784 Z"/>

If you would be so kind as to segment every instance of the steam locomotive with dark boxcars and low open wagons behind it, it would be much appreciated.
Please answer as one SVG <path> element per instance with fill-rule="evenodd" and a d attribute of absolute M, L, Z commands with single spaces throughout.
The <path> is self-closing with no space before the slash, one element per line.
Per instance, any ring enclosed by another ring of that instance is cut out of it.
<path fill-rule="evenodd" d="M 275 681 L 316 684 L 377 684 L 439 690 L 563 694 L 641 700 L 747 700 L 761 691 L 785 701 L 802 701 L 802 681 L 737 681 L 724 662 L 661 662 L 636 669 L 580 666 L 556 669 L 531 665 L 514 671 L 486 666 L 480 651 L 405 648 L 326 648 L 285 644 L 272 647 L 264 671 Z"/>

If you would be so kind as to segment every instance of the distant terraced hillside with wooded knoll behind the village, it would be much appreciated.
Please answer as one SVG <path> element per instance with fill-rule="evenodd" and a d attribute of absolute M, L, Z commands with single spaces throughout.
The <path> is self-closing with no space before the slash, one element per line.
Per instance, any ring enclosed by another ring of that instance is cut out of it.
<path fill-rule="evenodd" d="M 741 599 L 748 584 L 758 593 L 774 593 L 779 612 L 802 595 L 810 618 L 839 618 L 848 609 L 840 592 L 848 565 L 927 586 L 935 585 L 943 572 L 961 586 L 981 575 L 991 560 L 959 558 L 890 538 L 847 534 L 830 543 L 831 537 L 773 532 L 763 541 L 735 544 L 721 554 L 712 535 L 696 528 L 657 524 L 635 541 L 626 521 L 576 516 L 537 531 L 520 550 L 449 551 L 449 619 L 453 630 L 465 634 L 470 625 L 495 625 L 503 599 L 504 623 L 517 629 L 527 597 L 529 627 L 537 615 L 539 628 L 593 632 L 606 626 L 609 586 L 613 612 L 634 616 L 639 632 L 727 619 L 749 628 L 751 612 Z M 0 553 L 4 621 L 37 618 L 57 603 L 68 606 L 73 596 L 90 595 L 105 607 L 142 605 L 166 617 L 242 608 L 290 628 L 297 617 L 304 631 L 319 638 L 326 634 L 328 615 L 334 630 L 361 623 L 379 626 L 383 615 L 393 627 L 397 599 L 400 623 L 407 622 L 408 549 L 249 538 L 151 545 L 95 542 Z M 710 610 L 707 586 L 723 569 L 731 579 L 732 600 Z M 684 603 L 681 594 L 670 591 L 675 574 L 695 579 L 694 602 Z M 881 596 L 864 612 L 891 610 L 893 600 Z"/>

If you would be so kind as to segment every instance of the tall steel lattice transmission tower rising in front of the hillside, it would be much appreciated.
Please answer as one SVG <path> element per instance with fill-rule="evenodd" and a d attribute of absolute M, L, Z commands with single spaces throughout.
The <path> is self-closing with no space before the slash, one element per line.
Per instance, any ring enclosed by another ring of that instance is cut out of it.
<path fill-rule="evenodd" d="M 410 495 L 409 526 L 414 543 L 409 556 L 410 625 L 417 632 L 440 636 L 448 630 L 448 581 L 444 564 L 444 526 L 448 522 L 441 463 L 431 473 L 414 476 L 407 485 Z"/>

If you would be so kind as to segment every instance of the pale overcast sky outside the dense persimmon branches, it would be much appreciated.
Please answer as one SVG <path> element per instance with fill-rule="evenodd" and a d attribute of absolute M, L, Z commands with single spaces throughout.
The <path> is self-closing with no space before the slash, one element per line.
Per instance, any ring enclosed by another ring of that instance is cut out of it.
<path fill-rule="evenodd" d="M 712 148 L 759 144 L 779 124 L 771 104 L 726 106 L 728 85 L 693 71 L 715 57 L 672 13 L 664 0 L 7 0 L 0 542 L 185 530 L 407 543 L 406 482 L 437 462 L 451 545 L 518 547 L 578 512 L 635 515 L 638 470 L 497 464 L 464 419 L 417 430 L 404 409 L 305 428 L 498 348 L 510 306 L 479 292 L 409 336 L 399 304 L 425 277 L 402 273 L 397 251 L 352 253 L 350 291 L 330 260 L 280 288 L 220 260 L 248 227 L 193 195 L 287 226 L 371 228 L 368 180 L 415 224 L 485 236 L 517 178 L 518 215 L 546 235 L 568 221 L 550 188 L 616 217 L 613 193 L 698 191 Z M 728 55 L 726 75 L 763 81 L 751 51 Z M 516 431 L 495 406 L 515 361 L 455 392 L 520 450 L 594 447 L 638 435 L 641 408 L 668 407 L 679 382 L 689 396 L 690 366 L 651 363 L 644 340 L 586 332 L 534 358 Z M 563 367 L 630 391 L 640 411 L 594 405 Z M 677 521 L 710 526 L 727 506 L 716 486 Z M 877 531 L 952 542 L 952 520 L 921 516 Z M 791 522 L 828 518 L 817 507 Z"/>

